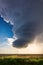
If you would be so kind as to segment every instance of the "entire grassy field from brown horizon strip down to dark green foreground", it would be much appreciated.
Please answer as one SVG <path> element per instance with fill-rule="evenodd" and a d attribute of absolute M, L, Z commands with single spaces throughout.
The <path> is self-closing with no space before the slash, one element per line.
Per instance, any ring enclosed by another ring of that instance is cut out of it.
<path fill-rule="evenodd" d="M 0 55 L 0 65 L 43 65 L 43 55 Z"/>

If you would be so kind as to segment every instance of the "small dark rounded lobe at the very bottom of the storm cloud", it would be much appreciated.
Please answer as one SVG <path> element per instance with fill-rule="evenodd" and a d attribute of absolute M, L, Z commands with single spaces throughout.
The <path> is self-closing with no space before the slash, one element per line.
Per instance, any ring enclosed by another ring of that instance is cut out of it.
<path fill-rule="evenodd" d="M 14 42 L 13 42 L 13 47 L 16 47 L 16 48 L 25 48 L 25 47 L 27 47 L 27 41 L 26 40 L 24 40 L 24 39 L 17 39 L 17 40 L 15 40 Z"/>

